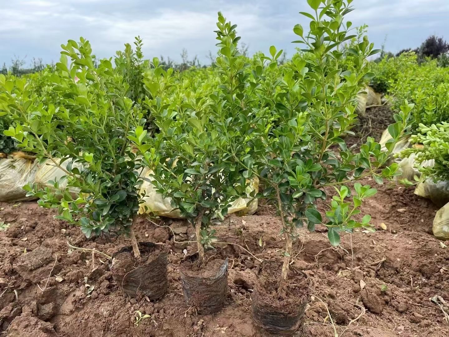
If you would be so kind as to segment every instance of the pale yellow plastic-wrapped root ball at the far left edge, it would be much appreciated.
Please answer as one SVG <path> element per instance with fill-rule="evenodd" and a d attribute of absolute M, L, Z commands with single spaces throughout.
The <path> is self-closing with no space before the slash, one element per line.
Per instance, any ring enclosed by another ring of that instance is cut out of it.
<path fill-rule="evenodd" d="M 14 202 L 32 200 L 26 196 L 23 186 L 33 183 L 37 171 L 37 163 L 12 155 L 0 159 L 0 201 Z"/>

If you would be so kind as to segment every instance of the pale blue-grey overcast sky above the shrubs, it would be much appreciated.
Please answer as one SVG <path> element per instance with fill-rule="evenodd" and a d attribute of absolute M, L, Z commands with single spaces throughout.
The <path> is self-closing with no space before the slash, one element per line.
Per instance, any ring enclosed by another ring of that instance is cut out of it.
<path fill-rule="evenodd" d="M 449 0 L 354 0 L 348 15 L 354 25 L 369 25 L 377 48 L 396 52 L 417 47 L 428 35 L 449 40 Z M 299 11 L 306 0 L 0 0 L 0 62 L 33 57 L 59 59 L 60 45 L 79 36 L 90 40 L 97 57 L 113 56 L 134 36 L 144 39 L 145 57 L 190 57 L 207 62 L 216 52 L 216 13 L 238 24 L 250 53 L 268 53 L 270 45 L 288 56 L 297 44 L 292 28 L 306 23 Z"/>

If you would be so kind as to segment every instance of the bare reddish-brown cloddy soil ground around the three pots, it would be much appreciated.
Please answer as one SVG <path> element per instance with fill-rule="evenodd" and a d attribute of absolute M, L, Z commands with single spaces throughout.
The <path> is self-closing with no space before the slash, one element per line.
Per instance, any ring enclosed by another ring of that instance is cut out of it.
<path fill-rule="evenodd" d="M 369 179 L 364 183 L 374 185 Z M 443 310 L 429 300 L 439 295 L 449 302 L 449 247 L 431 232 L 437 207 L 414 195 L 413 188 L 392 183 L 377 188 L 379 193 L 362 206 L 375 233 L 343 235 L 341 246 L 332 248 L 324 227 L 300 231 L 292 264 L 311 279 L 313 296 L 296 336 L 449 336 Z M 319 205 L 323 213 L 326 207 Z M 281 260 L 283 241 L 273 208 L 261 203 L 255 215 L 230 216 L 216 228 L 220 242 L 228 243 L 220 246 L 229 257 L 226 306 L 216 315 L 197 315 L 182 295 L 179 264 L 196 251 L 194 244 L 182 243 L 194 237 L 185 221 L 155 220 L 159 226 L 144 217 L 138 221 L 138 241 L 172 248 L 168 292 L 148 302 L 123 295 L 108 257 L 67 244 L 111 256 L 130 245 L 129 239 L 86 239 L 79 228 L 53 215 L 35 202 L 0 203 L 2 221 L 11 224 L 0 231 L 0 331 L 5 336 L 267 336 L 252 324 L 251 292 L 259 260 Z M 150 317 L 135 324 L 137 310 Z"/>

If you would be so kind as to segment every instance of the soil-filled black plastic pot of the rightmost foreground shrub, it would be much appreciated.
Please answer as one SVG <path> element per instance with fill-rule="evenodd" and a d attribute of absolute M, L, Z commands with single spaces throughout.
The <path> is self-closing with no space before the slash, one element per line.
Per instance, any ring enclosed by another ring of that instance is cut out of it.
<path fill-rule="evenodd" d="M 303 322 L 310 296 L 310 280 L 301 270 L 290 266 L 286 283 L 278 293 L 282 262 L 261 262 L 252 293 L 251 311 L 256 325 L 270 333 L 291 335 Z"/>

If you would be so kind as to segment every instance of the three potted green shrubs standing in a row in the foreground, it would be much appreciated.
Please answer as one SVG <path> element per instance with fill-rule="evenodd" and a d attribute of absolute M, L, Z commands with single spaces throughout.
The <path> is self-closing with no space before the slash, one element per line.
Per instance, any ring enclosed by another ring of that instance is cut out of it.
<path fill-rule="evenodd" d="M 344 136 L 357 118 L 357 93 L 373 76 L 367 59 L 378 50 L 366 36 L 346 44 L 357 38 L 344 21 L 352 0 L 307 2 L 311 13 L 302 14 L 310 30 L 293 29 L 301 57 L 282 65 L 282 50 L 274 46 L 251 60 L 242 55 L 237 26 L 219 13 L 213 69 L 180 75 L 157 58 L 130 56 L 129 49 L 114 67 L 112 58 L 97 61 L 80 38 L 62 45 L 44 85 L 0 75 L 0 114 L 13 121 L 4 135 L 65 173 L 63 186 L 26 186 L 28 195 L 57 208 L 57 218 L 88 236 L 113 229 L 130 236 L 132 245 L 114 254 L 112 264 L 125 293 L 157 299 L 167 284 L 168 247 L 138 243 L 133 232 L 144 169 L 195 227 L 198 252 L 181 263 L 180 276 L 186 302 L 202 312 L 220 310 L 227 292 L 227 259 L 213 249 L 217 214 L 226 215 L 238 198 L 264 198 L 277 207 L 285 248 L 281 261 L 258 266 L 264 281 L 252 297 L 255 323 L 270 331 L 297 330 L 310 296 L 306 275 L 290 266 L 299 227 L 326 226 L 333 245 L 344 232 L 374 231 L 370 216 L 357 214 L 376 190 L 352 183 L 364 177 L 382 183 L 399 174 L 387 160 L 409 135 L 413 104 L 401 105 L 384 150 L 370 137 L 359 149 L 348 148 Z M 343 71 L 348 55 L 352 65 Z M 144 71 L 123 71 L 131 58 Z M 251 177 L 264 184 L 262 192 L 247 194 Z M 337 194 L 322 217 L 316 203 L 326 200 L 326 186 Z M 73 197 L 73 188 L 79 195 Z M 289 314 L 273 319 L 281 313 Z"/>

